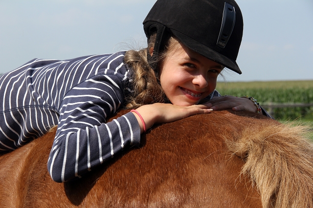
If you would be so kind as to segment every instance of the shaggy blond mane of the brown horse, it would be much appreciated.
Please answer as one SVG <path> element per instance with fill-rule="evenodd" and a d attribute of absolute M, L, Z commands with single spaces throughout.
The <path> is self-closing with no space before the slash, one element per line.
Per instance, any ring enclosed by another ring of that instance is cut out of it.
<path fill-rule="evenodd" d="M 235 118 L 234 118 L 235 119 Z M 234 137 L 224 133 L 228 149 L 245 161 L 263 207 L 313 207 L 313 145 L 308 126 L 248 119 Z"/>

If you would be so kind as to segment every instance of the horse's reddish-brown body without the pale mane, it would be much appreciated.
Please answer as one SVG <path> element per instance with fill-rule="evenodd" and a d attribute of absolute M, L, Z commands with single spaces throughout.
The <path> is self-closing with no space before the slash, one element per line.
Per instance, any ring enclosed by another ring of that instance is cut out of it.
<path fill-rule="evenodd" d="M 63 184 L 52 181 L 46 169 L 55 134 L 49 132 L 0 157 L 0 205 L 262 207 L 251 179 L 241 174 L 242 157 L 224 142 L 252 120 L 214 112 L 159 125 L 142 136 L 140 148 L 127 148 L 83 178 Z"/>

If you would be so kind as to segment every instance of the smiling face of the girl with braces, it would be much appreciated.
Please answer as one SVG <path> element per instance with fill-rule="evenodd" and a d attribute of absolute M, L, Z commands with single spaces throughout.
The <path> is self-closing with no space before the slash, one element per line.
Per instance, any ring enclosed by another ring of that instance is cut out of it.
<path fill-rule="evenodd" d="M 179 44 L 160 64 L 160 83 L 172 104 L 198 104 L 212 93 L 223 66 Z"/>

